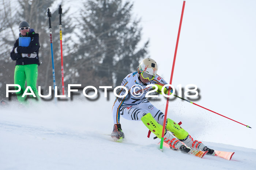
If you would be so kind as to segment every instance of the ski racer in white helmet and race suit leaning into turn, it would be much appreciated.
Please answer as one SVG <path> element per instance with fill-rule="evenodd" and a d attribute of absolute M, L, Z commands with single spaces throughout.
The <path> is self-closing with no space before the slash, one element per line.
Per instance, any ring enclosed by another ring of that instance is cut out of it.
<path fill-rule="evenodd" d="M 114 140 L 124 139 L 120 115 L 128 120 L 141 120 L 158 138 L 162 137 L 164 114 L 145 97 L 150 90 L 150 87 L 146 87 L 148 84 L 155 84 L 158 87 L 157 92 L 160 94 L 162 94 L 162 87 L 167 84 L 165 80 L 157 75 L 157 70 L 157 63 L 153 59 L 146 58 L 140 62 L 136 72 L 128 74 L 124 78 L 121 86 L 127 88 L 128 94 L 125 97 L 117 97 L 112 107 L 114 129 L 111 136 Z M 168 88 L 169 86 L 163 89 L 165 94 L 168 94 Z M 125 89 L 121 88 L 118 95 L 122 96 L 124 94 Z M 209 149 L 202 142 L 194 140 L 186 130 L 169 118 L 166 120 L 166 129 L 177 138 L 165 131 L 164 142 L 172 149 L 188 153 L 190 151 L 186 147 L 188 146 L 194 150 L 208 151 L 207 154 L 214 154 L 214 150 Z"/>

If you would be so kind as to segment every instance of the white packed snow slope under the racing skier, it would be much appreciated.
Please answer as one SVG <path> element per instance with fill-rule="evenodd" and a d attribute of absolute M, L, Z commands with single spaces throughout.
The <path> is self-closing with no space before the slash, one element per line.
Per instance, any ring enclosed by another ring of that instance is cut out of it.
<path fill-rule="evenodd" d="M 164 102 L 152 103 L 163 110 Z M 255 149 L 207 142 L 210 136 L 221 140 L 225 134 L 211 128 L 209 122 L 195 123 L 189 115 L 185 116 L 187 119 L 174 115 L 175 108 L 169 109 L 168 117 L 182 120 L 182 127 L 208 147 L 234 151 L 233 158 L 227 161 L 206 155 L 200 159 L 167 148 L 161 152 L 159 139 L 153 140 L 153 135 L 148 139 L 148 130 L 142 122 L 122 118 L 125 140 L 113 142 L 106 135 L 113 128 L 112 103 L 113 96 L 108 101 L 101 95 L 94 102 L 68 101 L 57 105 L 41 102 L 26 109 L 11 103 L 8 108 L 0 108 L 0 169 L 255 169 Z M 232 131 L 231 127 L 226 128 Z M 248 142 L 241 136 L 238 138 L 241 145 Z"/>

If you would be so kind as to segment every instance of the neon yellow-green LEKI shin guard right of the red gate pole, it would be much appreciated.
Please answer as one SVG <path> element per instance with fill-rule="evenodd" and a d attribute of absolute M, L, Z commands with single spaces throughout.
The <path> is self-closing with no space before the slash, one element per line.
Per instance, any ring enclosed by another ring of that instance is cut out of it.
<path fill-rule="evenodd" d="M 187 131 L 182 129 L 178 123 L 169 118 L 167 118 L 166 129 L 169 130 L 178 139 L 185 139 L 188 136 Z"/>

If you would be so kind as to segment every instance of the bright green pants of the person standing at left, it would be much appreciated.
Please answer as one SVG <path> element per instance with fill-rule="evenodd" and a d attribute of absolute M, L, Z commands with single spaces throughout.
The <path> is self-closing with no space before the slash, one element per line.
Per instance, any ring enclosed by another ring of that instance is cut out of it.
<path fill-rule="evenodd" d="M 20 103 L 26 104 L 27 103 L 27 95 L 22 97 L 24 91 L 25 91 L 25 83 L 27 80 L 27 86 L 30 86 L 33 90 L 35 96 L 39 100 L 39 95 L 37 91 L 37 64 L 29 64 L 29 65 L 17 65 L 15 66 L 14 71 L 14 84 L 19 84 L 21 87 L 21 90 L 19 92 L 16 92 L 17 98 Z M 18 90 L 18 87 L 15 87 L 15 90 Z M 27 92 L 30 92 L 27 91 Z M 31 95 L 32 96 L 32 95 Z M 34 98 L 32 96 L 32 98 Z"/>

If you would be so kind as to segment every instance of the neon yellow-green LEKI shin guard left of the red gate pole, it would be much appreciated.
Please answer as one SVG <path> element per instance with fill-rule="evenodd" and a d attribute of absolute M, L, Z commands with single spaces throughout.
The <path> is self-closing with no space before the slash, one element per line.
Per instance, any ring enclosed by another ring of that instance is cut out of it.
<path fill-rule="evenodd" d="M 151 113 L 146 114 L 141 118 L 142 122 L 147 126 L 147 128 L 153 132 L 158 138 L 162 137 L 163 126 L 153 118 Z"/>

